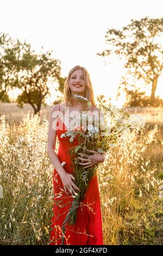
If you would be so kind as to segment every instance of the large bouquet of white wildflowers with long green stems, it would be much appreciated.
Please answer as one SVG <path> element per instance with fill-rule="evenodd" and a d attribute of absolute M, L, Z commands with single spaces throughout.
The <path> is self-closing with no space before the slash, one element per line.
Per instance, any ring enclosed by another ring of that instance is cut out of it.
<path fill-rule="evenodd" d="M 91 102 L 82 96 L 75 95 L 74 97 L 87 101 L 87 106 L 91 107 Z M 122 141 L 130 135 L 130 129 L 140 130 L 145 126 L 143 119 L 139 115 L 129 114 L 126 109 L 120 109 L 116 106 L 104 106 L 99 103 L 98 108 L 102 115 L 90 117 L 87 114 L 80 114 L 80 118 L 75 121 L 81 126 L 81 130 L 68 130 L 62 134 L 62 137 L 70 137 L 70 142 L 77 137 L 79 144 L 70 148 L 70 156 L 72 167 L 74 169 L 73 176 L 76 185 L 80 192 L 76 196 L 72 196 L 73 203 L 68 212 L 64 224 L 62 226 L 63 233 L 65 232 L 65 224 L 72 225 L 76 223 L 77 208 L 80 201 L 85 195 L 89 181 L 97 174 L 98 164 L 84 168 L 79 164 L 78 154 L 82 153 L 85 156 L 91 155 L 87 150 L 95 150 L 100 154 L 107 154 L 112 147 L 120 145 Z M 64 237 L 62 237 L 62 244 Z"/>

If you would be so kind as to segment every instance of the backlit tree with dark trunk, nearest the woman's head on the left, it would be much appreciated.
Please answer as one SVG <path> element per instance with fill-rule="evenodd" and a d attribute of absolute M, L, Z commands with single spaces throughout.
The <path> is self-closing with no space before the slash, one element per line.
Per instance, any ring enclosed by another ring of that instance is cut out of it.
<path fill-rule="evenodd" d="M 46 96 L 50 96 L 49 88 L 52 83 L 59 82 L 60 60 L 54 59 L 50 51 L 47 53 L 35 54 L 30 50 L 30 44 L 20 60 L 20 71 L 17 73 L 15 87 L 22 89 L 22 94 L 17 97 L 18 106 L 23 107 L 24 103 L 29 103 L 34 114 L 40 112 L 41 104 L 45 103 Z"/>

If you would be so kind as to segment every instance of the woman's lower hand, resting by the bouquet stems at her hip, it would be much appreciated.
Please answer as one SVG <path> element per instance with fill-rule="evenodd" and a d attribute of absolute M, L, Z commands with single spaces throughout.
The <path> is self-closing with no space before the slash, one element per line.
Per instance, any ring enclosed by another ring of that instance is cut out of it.
<path fill-rule="evenodd" d="M 61 181 L 62 181 L 62 184 L 64 185 L 64 190 L 65 190 L 65 193 L 68 195 L 67 191 L 70 192 L 72 195 L 74 193 L 76 193 L 76 191 L 74 191 L 74 189 L 79 190 L 79 188 L 73 183 L 73 180 L 75 180 L 74 176 L 72 174 L 69 174 L 69 173 L 64 173 L 61 175 Z M 73 180 L 72 180 L 73 179 Z"/>

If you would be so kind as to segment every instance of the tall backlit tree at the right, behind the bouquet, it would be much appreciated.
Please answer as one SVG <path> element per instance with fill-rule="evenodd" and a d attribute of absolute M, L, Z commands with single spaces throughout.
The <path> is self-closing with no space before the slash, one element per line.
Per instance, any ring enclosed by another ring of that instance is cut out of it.
<path fill-rule="evenodd" d="M 126 63 L 126 75 L 131 75 L 135 80 L 142 81 L 151 86 L 151 105 L 154 103 L 155 91 L 158 78 L 162 75 L 163 48 L 156 41 L 157 36 L 163 32 L 163 17 L 160 19 L 149 19 L 148 16 L 141 20 L 131 20 L 130 24 L 122 30 L 108 29 L 105 38 L 109 49 L 98 56 L 110 56 L 115 54 L 124 58 Z M 128 86 L 126 76 L 122 77 L 121 86 Z M 136 85 L 135 85 L 136 86 Z"/>

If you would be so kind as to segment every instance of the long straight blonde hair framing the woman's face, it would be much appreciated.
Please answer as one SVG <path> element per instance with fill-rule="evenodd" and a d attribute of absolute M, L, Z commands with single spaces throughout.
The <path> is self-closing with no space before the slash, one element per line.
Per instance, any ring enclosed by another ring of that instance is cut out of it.
<path fill-rule="evenodd" d="M 64 100 L 65 100 L 65 103 L 66 103 L 65 106 L 70 107 L 70 104 L 71 104 L 71 106 L 73 106 L 73 97 L 71 95 L 71 89 L 68 86 L 69 86 L 69 83 L 70 83 L 71 74 L 73 73 L 73 71 L 75 71 L 77 69 L 82 69 L 83 73 L 84 73 L 84 82 L 85 82 L 85 85 L 86 85 L 86 90 L 84 92 L 84 97 L 86 97 L 88 101 L 91 101 L 92 107 L 97 106 L 89 72 L 86 70 L 86 68 L 84 68 L 83 66 L 80 66 L 80 65 L 74 66 L 74 68 L 72 68 L 70 70 L 70 72 L 68 73 L 68 76 L 66 78 L 66 81 L 65 81 L 65 84 L 64 84 Z M 84 102 L 82 111 L 87 111 L 87 101 Z"/>

